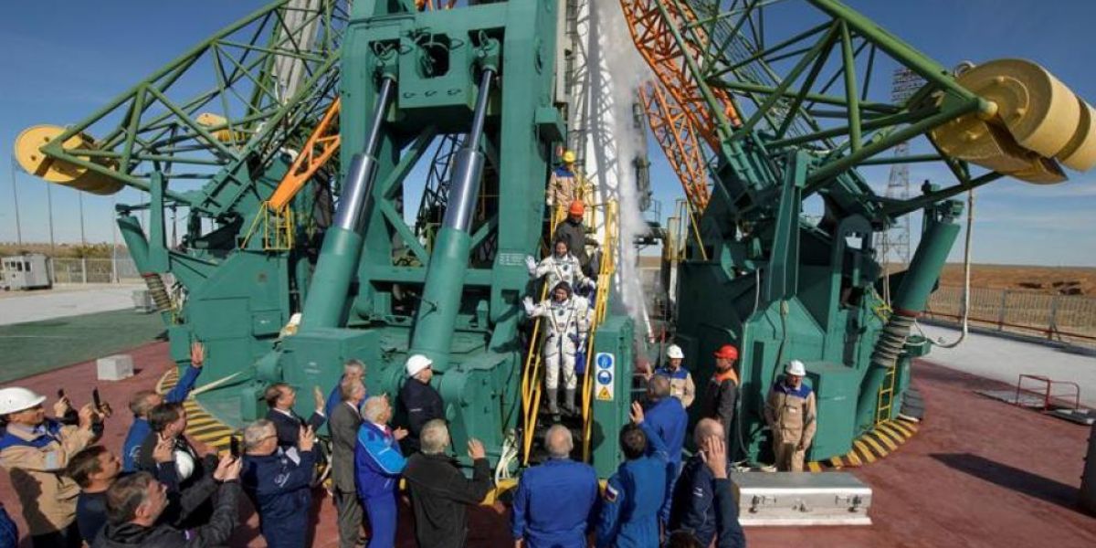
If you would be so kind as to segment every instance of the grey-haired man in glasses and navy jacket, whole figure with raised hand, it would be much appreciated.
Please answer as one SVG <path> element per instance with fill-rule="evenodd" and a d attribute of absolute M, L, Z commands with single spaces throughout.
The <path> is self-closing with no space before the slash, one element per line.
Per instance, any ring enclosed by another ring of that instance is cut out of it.
<path fill-rule="evenodd" d="M 259 528 L 271 548 L 309 545 L 316 434 L 301 426 L 297 438 L 297 447 L 278 447 L 274 423 L 263 419 L 243 430 L 240 483 L 259 512 Z"/>

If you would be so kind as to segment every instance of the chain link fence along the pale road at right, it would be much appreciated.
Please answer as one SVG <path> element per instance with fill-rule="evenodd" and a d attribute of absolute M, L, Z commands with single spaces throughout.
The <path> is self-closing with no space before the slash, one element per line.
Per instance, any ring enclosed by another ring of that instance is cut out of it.
<path fill-rule="evenodd" d="M 962 287 L 940 286 L 928 300 L 926 316 L 959 321 L 961 301 Z M 972 287 L 969 308 L 970 321 L 981 327 L 1096 345 L 1096 298 L 1093 297 Z"/>

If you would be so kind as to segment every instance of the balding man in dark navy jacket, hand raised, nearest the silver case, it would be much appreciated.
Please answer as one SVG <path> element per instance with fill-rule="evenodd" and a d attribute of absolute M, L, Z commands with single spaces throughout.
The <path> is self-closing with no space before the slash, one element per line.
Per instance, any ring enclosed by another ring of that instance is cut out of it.
<path fill-rule="evenodd" d="M 693 429 L 697 448 L 685 461 L 674 488 L 667 532 L 685 532 L 710 546 L 717 535 L 719 547 L 744 547 L 745 535 L 739 524 L 739 510 L 721 496 L 728 488 L 727 434 L 715 419 L 701 419 Z M 709 463 L 711 466 L 709 466 Z"/>

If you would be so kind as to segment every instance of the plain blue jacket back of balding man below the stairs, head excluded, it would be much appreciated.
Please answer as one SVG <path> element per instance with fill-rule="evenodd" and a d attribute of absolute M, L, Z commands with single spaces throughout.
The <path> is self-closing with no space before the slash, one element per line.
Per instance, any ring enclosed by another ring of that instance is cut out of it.
<path fill-rule="evenodd" d="M 529 548 L 585 548 L 596 517 L 597 473 L 569 458 L 552 458 L 522 473 L 511 530 Z"/>

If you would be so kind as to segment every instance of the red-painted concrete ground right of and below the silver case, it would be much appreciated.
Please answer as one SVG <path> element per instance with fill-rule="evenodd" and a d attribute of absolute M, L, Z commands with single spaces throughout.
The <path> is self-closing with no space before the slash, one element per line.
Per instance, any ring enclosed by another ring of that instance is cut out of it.
<path fill-rule="evenodd" d="M 746 529 L 752 547 L 1096 546 L 1096 517 L 1075 505 L 1088 427 L 972 392 L 1004 385 L 914 366 L 920 432 L 854 470 L 871 486 L 869 527 Z"/>

